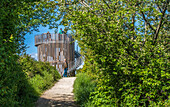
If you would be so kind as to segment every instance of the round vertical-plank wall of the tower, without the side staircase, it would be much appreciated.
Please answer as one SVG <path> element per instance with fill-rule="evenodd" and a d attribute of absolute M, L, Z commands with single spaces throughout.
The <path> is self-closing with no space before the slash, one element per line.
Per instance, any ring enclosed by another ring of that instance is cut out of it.
<path fill-rule="evenodd" d="M 59 69 L 64 58 L 68 63 L 74 61 L 75 43 L 73 38 L 65 34 L 62 35 L 62 40 L 59 40 L 58 34 L 53 34 L 53 37 L 55 38 L 51 39 L 48 33 L 35 37 L 35 46 L 37 46 L 39 61 L 50 62 Z"/>

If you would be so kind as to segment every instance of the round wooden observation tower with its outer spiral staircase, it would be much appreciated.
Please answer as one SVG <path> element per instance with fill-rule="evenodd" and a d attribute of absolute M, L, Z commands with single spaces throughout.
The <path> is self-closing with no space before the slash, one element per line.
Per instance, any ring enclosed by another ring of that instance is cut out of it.
<path fill-rule="evenodd" d="M 49 62 L 62 74 L 64 59 L 68 62 L 68 72 L 81 65 L 80 54 L 75 51 L 74 39 L 66 34 L 43 33 L 35 36 L 38 60 Z"/>

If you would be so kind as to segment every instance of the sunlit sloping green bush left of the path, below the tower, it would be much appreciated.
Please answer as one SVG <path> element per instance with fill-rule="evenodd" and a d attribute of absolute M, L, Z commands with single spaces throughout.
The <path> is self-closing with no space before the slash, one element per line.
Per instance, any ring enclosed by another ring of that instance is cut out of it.
<path fill-rule="evenodd" d="M 39 95 L 61 78 L 55 67 L 49 63 L 35 61 L 29 56 L 20 57 L 20 64 L 27 74 L 29 84 Z"/>

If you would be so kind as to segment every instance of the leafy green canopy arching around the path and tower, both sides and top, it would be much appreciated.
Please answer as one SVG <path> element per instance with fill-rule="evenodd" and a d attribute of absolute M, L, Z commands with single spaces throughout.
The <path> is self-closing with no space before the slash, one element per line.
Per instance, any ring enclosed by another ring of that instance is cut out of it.
<path fill-rule="evenodd" d="M 94 106 L 169 106 L 168 6 L 169 0 L 2 0 L 1 103 L 17 103 L 24 35 L 39 25 L 64 25 L 85 56 L 83 72 L 97 80 Z"/>

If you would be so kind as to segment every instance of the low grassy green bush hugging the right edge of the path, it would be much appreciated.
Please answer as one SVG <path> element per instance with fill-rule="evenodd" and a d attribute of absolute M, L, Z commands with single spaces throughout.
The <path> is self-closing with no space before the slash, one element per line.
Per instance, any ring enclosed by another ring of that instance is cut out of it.
<path fill-rule="evenodd" d="M 94 91 L 96 82 L 86 73 L 77 74 L 74 82 L 74 96 L 78 104 L 85 106 L 89 102 L 90 93 Z"/>

